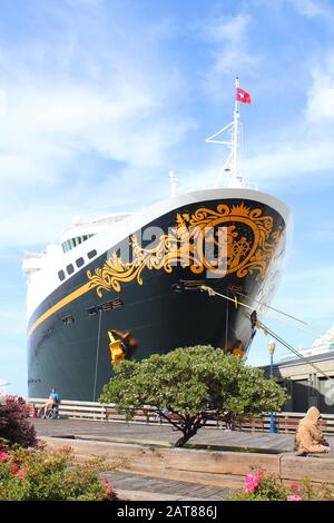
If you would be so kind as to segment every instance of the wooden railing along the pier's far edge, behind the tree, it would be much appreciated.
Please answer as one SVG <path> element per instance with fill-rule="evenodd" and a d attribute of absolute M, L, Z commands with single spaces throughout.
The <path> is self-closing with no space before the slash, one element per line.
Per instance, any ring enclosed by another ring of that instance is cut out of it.
<path fill-rule="evenodd" d="M 46 403 L 46 398 L 27 398 L 31 406 L 31 412 L 38 409 Z M 33 408 L 35 407 L 35 408 Z M 156 407 L 146 405 L 141 409 L 134 411 L 134 417 L 127 421 L 126 415 L 117 411 L 116 404 L 104 404 L 99 402 L 76 402 L 62 401 L 59 406 L 59 415 L 61 418 L 70 420 L 91 420 L 119 423 L 145 423 L 166 425 L 168 420 L 157 413 Z M 293 434 L 296 432 L 297 425 L 305 413 L 279 412 L 275 413 L 275 432 L 284 434 Z M 167 416 L 168 417 L 168 416 Z M 233 420 L 233 430 L 246 432 L 269 432 L 271 414 L 263 413 L 257 417 L 235 416 Z M 208 428 L 225 428 L 224 418 L 216 418 L 214 413 L 207 413 Z M 325 435 L 334 434 L 334 414 L 322 415 L 322 430 Z"/>

